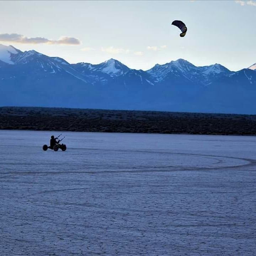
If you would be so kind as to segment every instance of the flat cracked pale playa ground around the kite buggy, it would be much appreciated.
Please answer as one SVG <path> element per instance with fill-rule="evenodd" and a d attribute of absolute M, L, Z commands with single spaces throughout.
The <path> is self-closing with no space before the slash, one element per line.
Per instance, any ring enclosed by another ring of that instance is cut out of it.
<path fill-rule="evenodd" d="M 256 137 L 52 133 L 0 131 L 1 256 L 256 254 Z"/>

